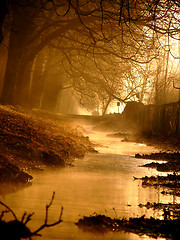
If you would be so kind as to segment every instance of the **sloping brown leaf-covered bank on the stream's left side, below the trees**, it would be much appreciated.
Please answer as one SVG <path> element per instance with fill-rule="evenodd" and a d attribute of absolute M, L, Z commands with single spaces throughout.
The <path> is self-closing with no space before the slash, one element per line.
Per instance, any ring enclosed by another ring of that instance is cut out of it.
<path fill-rule="evenodd" d="M 0 106 L 0 183 L 28 183 L 30 170 L 71 165 L 94 151 L 63 115 Z"/>

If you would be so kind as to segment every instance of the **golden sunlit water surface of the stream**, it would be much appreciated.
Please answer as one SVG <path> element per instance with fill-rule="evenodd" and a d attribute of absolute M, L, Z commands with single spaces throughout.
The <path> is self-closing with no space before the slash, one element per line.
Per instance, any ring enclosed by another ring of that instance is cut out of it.
<path fill-rule="evenodd" d="M 133 217 L 143 214 L 158 216 L 160 213 L 139 208 L 138 204 L 145 204 L 147 201 L 172 202 L 172 197 L 161 195 L 160 190 L 142 188 L 140 181 L 133 180 L 133 176 L 156 174 L 155 170 L 138 167 L 148 160 L 135 159 L 131 156 L 135 151 L 140 153 L 152 151 L 154 150 L 152 147 L 122 143 L 115 138 L 102 138 L 102 134 L 98 137 L 96 141 L 108 145 L 108 148 L 99 147 L 99 154 L 88 154 L 84 159 L 76 160 L 75 167 L 34 172 L 32 186 L 1 197 L 18 217 L 21 217 L 24 211 L 28 213 L 35 211 L 33 220 L 28 225 L 31 230 L 35 230 L 43 223 L 45 206 L 49 203 L 52 192 L 56 192 L 49 212 L 49 221 L 51 223 L 58 219 L 63 206 L 63 222 L 43 230 L 43 240 L 149 240 L 151 238 L 146 236 L 140 237 L 124 232 L 104 234 L 83 232 L 74 223 L 80 217 L 89 216 L 94 212 L 110 217 Z"/>

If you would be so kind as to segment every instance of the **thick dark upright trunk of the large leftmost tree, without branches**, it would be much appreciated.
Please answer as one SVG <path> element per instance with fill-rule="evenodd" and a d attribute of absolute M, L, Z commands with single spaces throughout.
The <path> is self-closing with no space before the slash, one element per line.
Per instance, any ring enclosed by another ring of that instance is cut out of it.
<path fill-rule="evenodd" d="M 22 88 L 24 85 L 21 82 L 24 80 L 24 74 L 29 78 L 33 58 L 31 56 L 31 58 L 25 59 L 25 56 L 27 56 L 28 41 L 34 31 L 33 16 L 37 14 L 39 9 L 31 7 L 29 10 L 28 15 L 28 9 L 26 8 L 25 11 L 23 7 L 13 12 L 12 22 L 14 27 L 9 37 L 8 60 L 1 95 L 2 104 L 19 104 L 19 102 L 22 102 L 19 101 L 20 99 L 16 99 L 20 97 L 18 91 L 22 90 L 19 87 Z"/>

